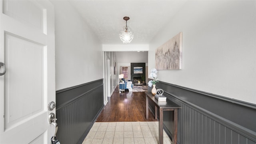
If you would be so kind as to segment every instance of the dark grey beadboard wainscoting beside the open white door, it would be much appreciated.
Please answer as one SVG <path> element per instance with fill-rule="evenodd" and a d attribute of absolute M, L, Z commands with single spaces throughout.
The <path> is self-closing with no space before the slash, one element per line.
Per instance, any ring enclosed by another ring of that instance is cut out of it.
<path fill-rule="evenodd" d="M 103 79 L 56 91 L 61 144 L 82 144 L 103 107 Z"/>

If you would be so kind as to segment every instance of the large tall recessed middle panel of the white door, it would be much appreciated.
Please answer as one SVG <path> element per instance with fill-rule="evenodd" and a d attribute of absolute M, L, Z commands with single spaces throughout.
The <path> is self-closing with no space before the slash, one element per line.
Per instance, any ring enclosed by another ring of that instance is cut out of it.
<path fill-rule="evenodd" d="M 44 110 L 44 46 L 5 34 L 5 129 Z"/>

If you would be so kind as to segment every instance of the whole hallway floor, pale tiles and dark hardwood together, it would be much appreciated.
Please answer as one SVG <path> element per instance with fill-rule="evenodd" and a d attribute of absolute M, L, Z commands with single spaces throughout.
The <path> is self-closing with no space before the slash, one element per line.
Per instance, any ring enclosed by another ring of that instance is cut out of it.
<path fill-rule="evenodd" d="M 158 144 L 158 121 L 146 120 L 144 92 L 119 92 L 118 87 L 82 144 Z M 164 144 L 172 144 L 164 132 Z"/>

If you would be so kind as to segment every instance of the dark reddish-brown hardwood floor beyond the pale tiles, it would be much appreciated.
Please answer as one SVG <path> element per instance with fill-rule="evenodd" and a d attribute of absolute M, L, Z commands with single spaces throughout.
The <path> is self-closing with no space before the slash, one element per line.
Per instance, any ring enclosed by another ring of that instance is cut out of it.
<path fill-rule="evenodd" d="M 146 120 L 146 96 L 144 92 L 119 93 L 117 87 L 108 103 L 103 108 L 96 122 L 154 122 L 154 116 L 149 112 Z"/>

